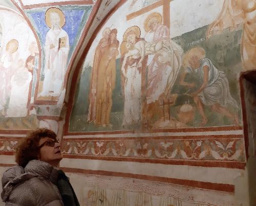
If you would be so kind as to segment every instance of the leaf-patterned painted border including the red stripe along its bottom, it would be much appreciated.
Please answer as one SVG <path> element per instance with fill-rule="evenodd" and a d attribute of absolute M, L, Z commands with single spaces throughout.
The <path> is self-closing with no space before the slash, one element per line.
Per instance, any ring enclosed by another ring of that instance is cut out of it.
<path fill-rule="evenodd" d="M 63 139 L 66 158 L 172 165 L 245 167 L 243 135 Z"/>

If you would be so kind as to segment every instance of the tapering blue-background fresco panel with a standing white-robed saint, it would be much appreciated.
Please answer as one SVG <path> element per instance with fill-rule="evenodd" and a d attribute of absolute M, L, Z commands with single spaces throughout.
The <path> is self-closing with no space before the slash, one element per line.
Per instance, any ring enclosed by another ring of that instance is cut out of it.
<path fill-rule="evenodd" d="M 65 96 L 68 64 L 91 9 L 92 5 L 26 10 L 42 45 L 38 100 Z"/>

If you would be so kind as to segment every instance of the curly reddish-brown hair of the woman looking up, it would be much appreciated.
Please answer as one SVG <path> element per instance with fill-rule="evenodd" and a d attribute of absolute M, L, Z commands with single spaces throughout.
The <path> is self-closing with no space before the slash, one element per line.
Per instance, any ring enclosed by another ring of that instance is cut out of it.
<path fill-rule="evenodd" d="M 29 161 L 38 158 L 38 143 L 41 138 L 51 138 L 56 140 L 56 134 L 54 131 L 41 128 L 29 132 L 22 141 L 19 142 L 16 148 L 15 161 L 18 165 L 26 167 Z"/>

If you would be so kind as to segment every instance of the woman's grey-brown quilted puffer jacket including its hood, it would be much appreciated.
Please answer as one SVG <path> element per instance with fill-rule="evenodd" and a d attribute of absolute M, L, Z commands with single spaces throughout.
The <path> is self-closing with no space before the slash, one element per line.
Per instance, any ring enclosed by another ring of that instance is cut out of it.
<path fill-rule="evenodd" d="M 35 159 L 12 167 L 2 177 L 2 199 L 6 205 L 63 205 L 57 178 L 57 168 Z"/>

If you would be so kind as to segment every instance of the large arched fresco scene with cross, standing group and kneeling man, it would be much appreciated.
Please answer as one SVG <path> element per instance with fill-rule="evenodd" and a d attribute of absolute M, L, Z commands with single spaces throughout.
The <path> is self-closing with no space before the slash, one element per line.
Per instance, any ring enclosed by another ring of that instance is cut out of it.
<path fill-rule="evenodd" d="M 253 19 L 246 14 L 252 7 L 246 8 L 254 1 L 200 2 L 189 15 L 202 19 L 199 10 L 207 6 L 214 12 L 201 26 L 178 19 L 188 4 L 145 2 L 125 2 L 94 39 L 69 131 L 242 125 L 237 74 L 253 63 Z"/>

